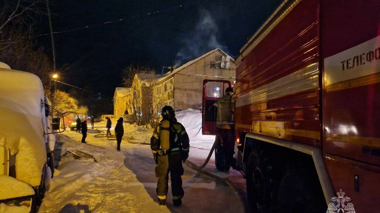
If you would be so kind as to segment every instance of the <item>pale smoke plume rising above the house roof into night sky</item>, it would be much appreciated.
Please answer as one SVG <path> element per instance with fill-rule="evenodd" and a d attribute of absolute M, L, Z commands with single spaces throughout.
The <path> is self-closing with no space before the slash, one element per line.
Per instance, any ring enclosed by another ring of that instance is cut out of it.
<path fill-rule="evenodd" d="M 194 30 L 183 39 L 184 45 L 177 52 L 174 68 L 191 61 L 213 49 L 227 51 L 227 47 L 218 42 L 219 27 L 210 11 L 199 10 L 199 20 Z"/>

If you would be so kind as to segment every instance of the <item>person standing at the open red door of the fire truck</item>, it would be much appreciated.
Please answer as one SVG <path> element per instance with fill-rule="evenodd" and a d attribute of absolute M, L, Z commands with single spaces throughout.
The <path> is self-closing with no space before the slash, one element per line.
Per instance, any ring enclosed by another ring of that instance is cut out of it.
<path fill-rule="evenodd" d="M 226 162 L 234 168 L 234 122 L 233 122 L 233 110 L 235 107 L 235 99 L 233 97 L 233 89 L 231 87 L 226 88 L 226 92 L 216 102 L 218 108 L 217 113 L 217 127 L 219 129 L 220 138 L 222 138 L 223 152 L 226 156 Z"/>

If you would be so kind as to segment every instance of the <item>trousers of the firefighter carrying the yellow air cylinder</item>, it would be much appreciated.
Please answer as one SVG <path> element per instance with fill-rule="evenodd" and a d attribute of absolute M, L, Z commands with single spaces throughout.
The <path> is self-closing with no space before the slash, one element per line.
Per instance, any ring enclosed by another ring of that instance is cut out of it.
<path fill-rule="evenodd" d="M 168 193 L 169 173 L 173 200 L 181 199 L 184 196 L 181 177 L 184 174 L 184 168 L 182 167 L 180 154 L 172 154 L 165 156 L 158 155 L 158 164 L 155 168 L 155 173 L 156 177 L 158 177 L 158 199 L 166 199 L 166 194 Z"/>

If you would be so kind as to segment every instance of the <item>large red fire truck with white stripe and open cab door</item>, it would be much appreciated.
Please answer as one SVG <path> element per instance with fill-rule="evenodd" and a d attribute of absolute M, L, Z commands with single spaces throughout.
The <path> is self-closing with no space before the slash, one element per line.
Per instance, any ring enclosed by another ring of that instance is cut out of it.
<path fill-rule="evenodd" d="M 380 212 L 380 1 L 285 0 L 236 62 L 236 169 L 251 210 Z M 204 81 L 203 134 L 218 134 L 206 109 L 229 85 Z"/>

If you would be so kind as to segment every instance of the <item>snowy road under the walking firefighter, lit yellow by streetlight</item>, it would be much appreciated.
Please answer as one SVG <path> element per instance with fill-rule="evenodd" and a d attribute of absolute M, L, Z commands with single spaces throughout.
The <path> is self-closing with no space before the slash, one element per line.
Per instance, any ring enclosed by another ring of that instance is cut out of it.
<path fill-rule="evenodd" d="M 185 164 L 182 206 L 173 207 L 170 187 L 167 205 L 159 206 L 150 147 L 123 141 L 122 151 L 117 152 L 116 141 L 95 138 L 97 133 L 89 130 L 87 144 L 79 143 L 79 133 L 60 134 L 59 172 L 52 180 L 40 213 L 243 212 L 239 198 L 229 186 Z M 90 153 L 97 163 L 91 159 L 74 160 L 67 150 L 75 149 Z"/>

